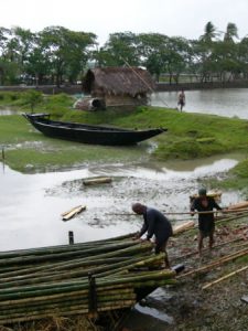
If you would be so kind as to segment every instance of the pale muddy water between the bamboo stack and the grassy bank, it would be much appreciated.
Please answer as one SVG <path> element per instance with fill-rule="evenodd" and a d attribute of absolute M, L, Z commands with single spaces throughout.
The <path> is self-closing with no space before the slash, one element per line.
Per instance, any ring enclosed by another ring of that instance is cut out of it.
<path fill-rule="evenodd" d="M 67 244 L 68 231 L 74 232 L 75 242 L 138 231 L 141 220 L 130 214 L 131 203 L 140 201 L 165 213 L 188 211 L 188 196 L 196 192 L 197 180 L 220 175 L 238 158 L 108 164 L 37 174 L 22 174 L 0 163 L 0 250 Z M 112 182 L 83 184 L 84 179 L 98 175 L 111 177 Z M 239 200 L 237 192 L 224 192 L 222 203 Z M 86 205 L 86 211 L 63 222 L 61 214 L 79 204 Z M 170 217 L 183 221 L 182 216 Z"/>

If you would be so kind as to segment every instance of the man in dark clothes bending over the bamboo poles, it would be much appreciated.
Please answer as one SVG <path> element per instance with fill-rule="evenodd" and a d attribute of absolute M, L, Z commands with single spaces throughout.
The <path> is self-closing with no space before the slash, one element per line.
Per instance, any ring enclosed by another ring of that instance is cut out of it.
<path fill-rule="evenodd" d="M 143 225 L 137 237 L 140 238 L 147 233 L 147 241 L 155 237 L 155 254 L 165 253 L 165 268 L 170 268 L 170 263 L 166 254 L 166 244 L 172 236 L 172 225 L 170 221 L 158 210 L 148 207 L 141 203 L 133 203 L 132 211 L 138 215 L 143 215 Z"/>

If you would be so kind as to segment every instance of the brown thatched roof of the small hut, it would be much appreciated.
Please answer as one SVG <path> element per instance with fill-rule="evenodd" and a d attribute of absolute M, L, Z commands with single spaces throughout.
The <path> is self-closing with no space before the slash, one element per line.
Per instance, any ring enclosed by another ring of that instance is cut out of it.
<path fill-rule="evenodd" d="M 151 75 L 139 67 L 96 67 L 88 70 L 83 88 L 86 93 L 130 95 L 152 93 L 155 88 Z"/>

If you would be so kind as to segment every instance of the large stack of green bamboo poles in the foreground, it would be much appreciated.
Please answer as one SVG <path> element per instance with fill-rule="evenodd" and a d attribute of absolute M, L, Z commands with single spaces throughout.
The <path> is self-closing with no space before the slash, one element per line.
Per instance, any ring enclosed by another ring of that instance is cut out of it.
<path fill-rule="evenodd" d="M 175 271 L 132 235 L 0 253 L 0 324 L 133 306 Z M 154 268 L 157 267 L 157 270 Z M 153 269 L 153 270 L 152 270 Z"/>

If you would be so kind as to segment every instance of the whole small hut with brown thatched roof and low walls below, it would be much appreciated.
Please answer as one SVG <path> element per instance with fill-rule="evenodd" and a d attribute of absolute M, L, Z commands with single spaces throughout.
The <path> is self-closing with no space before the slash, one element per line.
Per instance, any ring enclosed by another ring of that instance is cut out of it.
<path fill-rule="evenodd" d="M 155 85 L 140 67 L 96 67 L 86 73 L 83 90 L 105 99 L 106 106 L 144 105 Z"/>

